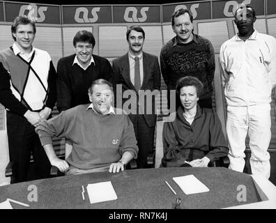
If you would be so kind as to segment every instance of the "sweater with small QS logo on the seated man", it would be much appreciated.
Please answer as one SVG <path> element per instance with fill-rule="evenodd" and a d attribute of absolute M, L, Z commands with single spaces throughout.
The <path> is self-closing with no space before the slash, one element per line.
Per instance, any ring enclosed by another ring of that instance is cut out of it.
<path fill-rule="evenodd" d="M 107 167 L 118 162 L 125 151 L 137 158 L 137 141 L 128 116 L 121 109 L 101 115 L 88 107 L 79 105 L 43 121 L 36 128 L 41 144 L 52 144 L 52 137 L 70 139 L 72 153 L 66 161 L 79 169 Z"/>

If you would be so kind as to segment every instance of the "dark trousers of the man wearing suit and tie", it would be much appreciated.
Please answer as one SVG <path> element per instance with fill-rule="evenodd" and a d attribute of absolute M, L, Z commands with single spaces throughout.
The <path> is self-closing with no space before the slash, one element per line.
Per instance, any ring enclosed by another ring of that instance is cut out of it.
<path fill-rule="evenodd" d="M 142 114 L 130 114 L 129 117 L 135 129 L 135 137 L 139 148 L 137 167 L 139 169 L 146 168 L 148 154 L 153 153 L 155 126 L 149 127 Z"/>

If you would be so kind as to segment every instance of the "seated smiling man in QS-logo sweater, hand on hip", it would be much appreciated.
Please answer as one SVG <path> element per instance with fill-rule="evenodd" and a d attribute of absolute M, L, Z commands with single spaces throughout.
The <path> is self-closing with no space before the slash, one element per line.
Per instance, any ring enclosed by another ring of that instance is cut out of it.
<path fill-rule="evenodd" d="M 43 121 L 36 128 L 52 166 L 66 174 L 109 171 L 116 173 L 137 158 L 138 147 L 130 118 L 111 106 L 112 84 L 95 80 L 89 88 L 90 105 L 79 105 Z M 52 137 L 72 141 L 66 160 L 56 157 Z"/>

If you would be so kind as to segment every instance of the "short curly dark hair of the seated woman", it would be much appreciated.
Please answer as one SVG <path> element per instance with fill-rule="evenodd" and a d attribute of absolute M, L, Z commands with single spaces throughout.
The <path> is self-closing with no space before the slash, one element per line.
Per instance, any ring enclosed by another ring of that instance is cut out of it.
<path fill-rule="evenodd" d="M 181 77 L 176 82 L 176 93 L 180 95 L 180 91 L 183 88 L 183 86 L 194 86 L 197 90 L 197 97 L 200 97 L 204 90 L 204 84 L 197 79 L 197 77 L 187 76 L 187 77 Z"/>

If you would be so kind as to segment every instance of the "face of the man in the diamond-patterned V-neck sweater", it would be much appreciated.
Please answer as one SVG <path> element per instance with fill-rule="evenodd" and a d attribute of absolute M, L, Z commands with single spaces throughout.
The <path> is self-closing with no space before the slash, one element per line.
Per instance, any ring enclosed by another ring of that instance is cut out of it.
<path fill-rule="evenodd" d="M 16 43 L 26 52 L 31 52 L 35 34 L 31 24 L 19 24 L 16 32 L 13 33 Z"/>

